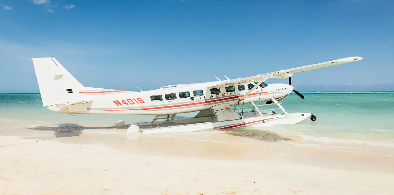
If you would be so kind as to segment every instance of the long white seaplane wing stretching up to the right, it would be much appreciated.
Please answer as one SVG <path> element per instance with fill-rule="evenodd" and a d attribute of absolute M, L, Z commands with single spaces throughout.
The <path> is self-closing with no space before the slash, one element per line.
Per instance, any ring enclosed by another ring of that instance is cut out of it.
<path fill-rule="evenodd" d="M 322 68 L 322 67 L 334 66 L 334 65 L 338 65 L 338 64 L 344 64 L 344 63 L 348 63 L 348 62 L 355 62 L 355 61 L 359 61 L 359 60 L 362 60 L 362 57 L 342 58 L 339 60 L 332 60 L 332 61 L 322 62 L 322 63 L 318 63 L 318 64 L 311 64 L 311 65 L 307 65 L 307 66 L 301 66 L 301 67 L 276 71 L 276 72 L 272 72 L 272 73 L 266 73 L 263 75 L 256 75 L 256 76 L 252 76 L 252 77 L 224 80 L 223 82 L 216 83 L 215 85 L 212 85 L 211 87 L 223 87 L 223 86 L 230 86 L 230 85 L 238 85 L 238 84 L 243 84 L 243 83 L 253 82 L 253 81 L 264 82 L 268 78 L 288 78 L 288 77 L 291 77 L 294 73 L 309 71 L 309 70 L 318 69 L 318 68 Z"/>

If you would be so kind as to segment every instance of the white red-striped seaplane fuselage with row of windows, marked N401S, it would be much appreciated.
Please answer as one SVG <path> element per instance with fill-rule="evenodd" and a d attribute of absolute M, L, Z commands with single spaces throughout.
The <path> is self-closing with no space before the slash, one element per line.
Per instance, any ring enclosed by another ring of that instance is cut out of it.
<path fill-rule="evenodd" d="M 209 87 L 212 86 L 212 83 L 214 82 L 165 87 L 141 92 L 97 89 L 78 91 L 82 100 L 87 103 L 82 101 L 64 108 L 61 104 L 46 108 L 61 113 L 75 114 L 169 115 L 200 111 L 220 104 L 234 106 L 252 101 L 271 100 L 271 98 L 288 95 L 293 89 L 288 84 L 258 86 L 244 100 L 240 100 L 249 91 L 248 84 L 255 85 L 253 82 L 240 84 L 244 87 L 238 87 L 238 85 L 225 86 L 219 88 L 220 92 L 217 88 L 211 92 L 211 89 L 215 88 Z M 175 97 L 173 94 L 175 94 Z"/>

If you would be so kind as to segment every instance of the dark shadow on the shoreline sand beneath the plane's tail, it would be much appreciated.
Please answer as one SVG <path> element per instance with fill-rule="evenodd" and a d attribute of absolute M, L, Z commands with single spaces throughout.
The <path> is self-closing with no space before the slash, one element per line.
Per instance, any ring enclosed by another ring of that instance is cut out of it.
<path fill-rule="evenodd" d="M 121 127 L 84 127 L 74 123 L 62 123 L 57 127 L 46 127 L 46 126 L 37 126 L 34 128 L 27 128 L 36 131 L 54 131 L 54 135 L 56 137 L 72 137 L 79 136 L 85 129 L 127 129 L 128 126 Z"/>

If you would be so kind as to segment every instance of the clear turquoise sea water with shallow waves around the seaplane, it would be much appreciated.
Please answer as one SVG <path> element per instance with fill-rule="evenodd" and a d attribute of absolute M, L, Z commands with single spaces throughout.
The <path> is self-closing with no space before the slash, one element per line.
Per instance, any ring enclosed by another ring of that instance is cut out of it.
<path fill-rule="evenodd" d="M 275 133 L 297 146 L 321 146 L 354 149 L 394 155 L 394 92 L 303 92 L 305 99 L 290 94 L 282 100 L 288 112 L 309 112 L 315 122 L 276 126 L 269 129 L 236 129 L 261 136 Z M 278 111 L 279 113 L 279 111 Z M 39 94 L 0 94 L 0 125 L 35 127 L 78 124 L 85 127 L 111 127 L 118 120 L 145 122 L 152 116 L 77 115 L 56 113 L 43 108 Z M 253 136 L 251 136 L 253 137 Z"/>

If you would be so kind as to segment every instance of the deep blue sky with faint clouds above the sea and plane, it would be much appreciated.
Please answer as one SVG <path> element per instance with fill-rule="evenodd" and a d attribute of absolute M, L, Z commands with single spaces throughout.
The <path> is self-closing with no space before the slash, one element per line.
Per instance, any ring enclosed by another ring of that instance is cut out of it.
<path fill-rule="evenodd" d="M 394 90 L 392 0 L 0 0 L 0 26 L 0 93 L 38 93 L 28 59 L 52 55 L 84 86 L 126 90 L 362 56 L 292 84 Z"/>

